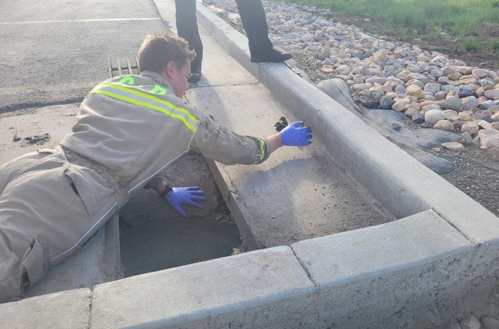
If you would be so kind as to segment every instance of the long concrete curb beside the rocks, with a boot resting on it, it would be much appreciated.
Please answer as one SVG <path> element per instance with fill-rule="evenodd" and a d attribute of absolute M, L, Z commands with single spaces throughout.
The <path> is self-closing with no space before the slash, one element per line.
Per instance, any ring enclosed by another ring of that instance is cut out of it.
<path fill-rule="evenodd" d="M 398 218 L 438 209 L 475 245 L 499 243 L 499 219 L 282 63 L 250 62 L 248 39 L 198 2 L 217 42 L 313 127 L 332 159 Z M 341 156 L 338 156 L 340 154 Z M 457 206 L 459 205 L 459 206 Z"/>

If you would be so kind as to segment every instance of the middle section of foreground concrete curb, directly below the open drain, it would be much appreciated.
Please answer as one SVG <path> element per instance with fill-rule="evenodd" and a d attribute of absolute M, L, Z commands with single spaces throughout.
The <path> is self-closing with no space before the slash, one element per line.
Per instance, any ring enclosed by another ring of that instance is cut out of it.
<path fill-rule="evenodd" d="M 276 247 L 99 285 L 91 328 L 314 328 L 314 291 Z"/>

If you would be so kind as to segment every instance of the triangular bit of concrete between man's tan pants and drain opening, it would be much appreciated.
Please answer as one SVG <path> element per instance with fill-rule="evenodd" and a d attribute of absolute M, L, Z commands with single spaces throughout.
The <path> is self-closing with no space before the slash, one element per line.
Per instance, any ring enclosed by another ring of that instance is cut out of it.
<path fill-rule="evenodd" d="M 32 297 L 83 287 L 91 289 L 123 278 L 119 234 L 119 216 L 115 215 L 83 248 L 50 269 L 24 295 Z"/>

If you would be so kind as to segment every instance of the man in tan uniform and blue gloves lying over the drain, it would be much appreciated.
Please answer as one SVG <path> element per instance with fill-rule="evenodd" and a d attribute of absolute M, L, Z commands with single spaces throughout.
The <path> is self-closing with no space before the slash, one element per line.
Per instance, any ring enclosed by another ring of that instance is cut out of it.
<path fill-rule="evenodd" d="M 202 207 L 197 187 L 154 178 L 188 150 L 250 165 L 283 145 L 310 143 L 303 122 L 267 138 L 240 136 L 190 106 L 182 97 L 194 56 L 184 39 L 149 35 L 139 50 L 140 75 L 97 85 L 55 149 L 0 167 L 0 302 L 19 298 L 77 251 L 137 188 L 153 187 L 182 216 L 183 204 Z"/>

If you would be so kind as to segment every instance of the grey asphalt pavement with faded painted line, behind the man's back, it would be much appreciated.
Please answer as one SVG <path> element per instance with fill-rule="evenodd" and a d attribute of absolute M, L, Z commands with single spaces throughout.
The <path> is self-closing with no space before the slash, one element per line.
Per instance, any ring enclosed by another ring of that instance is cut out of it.
<path fill-rule="evenodd" d="M 0 1 L 0 113 L 80 102 L 165 28 L 152 0 Z"/>

